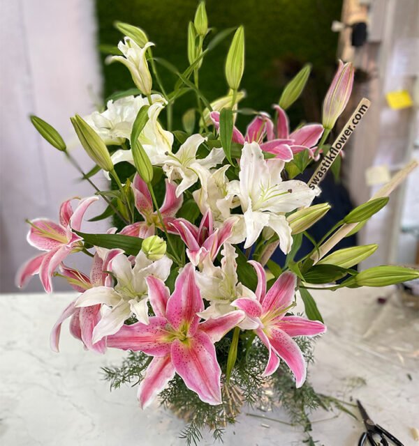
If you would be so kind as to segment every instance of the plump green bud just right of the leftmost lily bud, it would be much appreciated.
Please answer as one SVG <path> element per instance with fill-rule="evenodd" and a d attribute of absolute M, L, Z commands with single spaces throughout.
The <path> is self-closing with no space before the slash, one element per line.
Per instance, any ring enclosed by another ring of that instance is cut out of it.
<path fill-rule="evenodd" d="M 78 114 L 70 120 L 87 155 L 104 171 L 112 171 L 114 165 L 101 137 Z"/>

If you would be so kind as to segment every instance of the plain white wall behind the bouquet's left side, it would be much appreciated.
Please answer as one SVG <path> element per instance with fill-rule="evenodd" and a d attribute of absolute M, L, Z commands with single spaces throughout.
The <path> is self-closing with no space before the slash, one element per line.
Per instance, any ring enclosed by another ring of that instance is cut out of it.
<path fill-rule="evenodd" d="M 54 125 L 87 171 L 92 162 L 78 146 L 69 117 L 94 109 L 101 75 L 93 1 L 0 0 L 0 8 L 0 291 L 7 292 L 15 291 L 18 266 L 36 254 L 26 242 L 24 219 L 56 220 L 61 201 L 93 193 L 28 116 Z M 97 182 L 105 186 L 100 175 Z M 90 215 L 101 210 L 94 206 Z M 57 282 L 55 289 L 64 288 Z M 41 290 L 38 278 L 27 290 Z"/>

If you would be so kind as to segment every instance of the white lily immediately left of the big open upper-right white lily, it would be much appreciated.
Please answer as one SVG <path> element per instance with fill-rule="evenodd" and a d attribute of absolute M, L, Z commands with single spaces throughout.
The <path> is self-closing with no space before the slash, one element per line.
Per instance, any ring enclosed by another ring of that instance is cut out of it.
<path fill-rule="evenodd" d="M 176 153 L 168 153 L 166 157 L 163 171 L 165 171 L 169 181 L 181 179 L 176 189 L 177 197 L 180 197 L 186 189 L 189 189 L 198 181 L 198 170 L 211 169 L 216 164 L 223 162 L 225 155 L 222 148 L 213 148 L 210 154 L 203 159 L 196 158 L 198 147 L 204 141 L 206 141 L 206 138 L 200 134 L 193 134 L 186 139 Z"/>

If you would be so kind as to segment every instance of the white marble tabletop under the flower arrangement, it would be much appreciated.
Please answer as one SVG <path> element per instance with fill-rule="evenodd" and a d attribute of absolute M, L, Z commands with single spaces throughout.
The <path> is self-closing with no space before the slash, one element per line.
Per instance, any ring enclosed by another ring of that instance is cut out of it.
<path fill-rule="evenodd" d="M 311 368 L 316 390 L 361 399 L 374 421 L 405 446 L 418 444 L 410 431 L 419 427 L 418 312 L 402 307 L 389 288 L 315 294 L 329 327 Z M 390 298 L 378 305 L 378 295 Z M 67 326 L 61 353 L 50 351 L 50 328 L 71 298 L 70 293 L 0 295 L 0 445 L 184 445 L 178 438 L 183 423 L 175 415 L 158 403 L 140 410 L 131 387 L 109 392 L 100 367 L 117 364 L 121 352 L 85 352 Z M 353 389 L 358 378 L 366 385 Z M 302 444 L 299 429 L 247 412 L 244 408 L 230 426 L 225 445 Z M 282 410 L 265 415 L 286 421 Z M 312 418 L 319 445 L 357 444 L 363 426 L 348 415 L 318 410 Z M 205 436 L 201 444 L 212 443 Z"/>

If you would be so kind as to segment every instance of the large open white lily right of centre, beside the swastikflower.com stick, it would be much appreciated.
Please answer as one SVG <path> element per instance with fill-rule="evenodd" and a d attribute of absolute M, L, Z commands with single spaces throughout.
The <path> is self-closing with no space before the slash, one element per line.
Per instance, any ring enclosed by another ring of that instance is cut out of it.
<path fill-rule="evenodd" d="M 248 248 L 266 226 L 279 236 L 279 247 L 290 252 L 293 238 L 285 214 L 309 206 L 320 192 L 312 190 L 298 180 L 282 181 L 284 161 L 277 158 L 265 160 L 256 142 L 245 143 L 240 158 L 239 181 L 228 185 L 230 194 L 240 198 L 243 211 L 244 231 L 242 240 Z"/>

